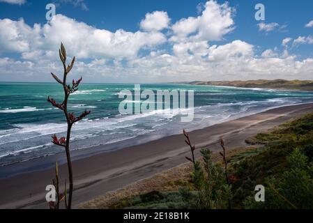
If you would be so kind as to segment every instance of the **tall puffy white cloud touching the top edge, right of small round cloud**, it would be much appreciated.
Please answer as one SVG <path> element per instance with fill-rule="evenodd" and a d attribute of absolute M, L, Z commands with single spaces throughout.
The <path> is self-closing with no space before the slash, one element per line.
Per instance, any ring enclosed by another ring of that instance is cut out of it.
<path fill-rule="evenodd" d="M 219 5 L 216 1 L 207 1 L 202 14 L 198 17 L 183 18 L 172 26 L 174 42 L 222 40 L 222 37 L 234 30 L 232 19 L 234 9 L 228 3 Z"/>

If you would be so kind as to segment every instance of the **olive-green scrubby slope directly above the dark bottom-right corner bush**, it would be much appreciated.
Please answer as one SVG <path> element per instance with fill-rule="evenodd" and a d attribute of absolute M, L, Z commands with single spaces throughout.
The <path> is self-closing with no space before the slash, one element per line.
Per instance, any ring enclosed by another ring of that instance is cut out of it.
<path fill-rule="evenodd" d="M 238 208 L 251 196 L 254 186 L 266 185 L 266 178 L 280 178 L 289 170 L 287 157 L 294 149 L 303 151 L 312 161 L 313 113 L 284 123 L 268 132 L 246 140 L 249 144 L 264 145 L 253 155 L 238 155 L 233 161 L 233 171 L 238 181 L 234 187 L 234 203 Z"/>

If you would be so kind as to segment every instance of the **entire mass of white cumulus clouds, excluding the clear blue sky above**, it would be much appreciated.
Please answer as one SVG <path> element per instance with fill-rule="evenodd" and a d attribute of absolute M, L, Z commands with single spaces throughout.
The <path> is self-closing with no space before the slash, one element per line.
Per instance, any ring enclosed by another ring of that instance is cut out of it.
<path fill-rule="evenodd" d="M 199 8 L 199 7 L 198 7 Z M 234 30 L 234 9 L 208 1 L 197 17 L 169 26 L 169 15 L 146 14 L 140 30 L 107 31 L 56 15 L 47 24 L 29 26 L 24 20 L 0 20 L 1 81 L 47 81 L 49 72 L 61 72 L 61 42 L 77 56 L 72 77 L 88 82 L 174 82 L 226 79 L 309 79 L 313 59 L 289 55 L 288 45 L 309 44 L 312 36 L 282 40 L 280 49 L 266 49 L 244 40 L 224 40 Z M 167 34 L 162 33 L 168 29 Z M 163 46 L 164 43 L 167 45 Z M 10 59 L 7 52 L 20 58 Z M 144 52 L 144 53 L 143 53 Z"/>

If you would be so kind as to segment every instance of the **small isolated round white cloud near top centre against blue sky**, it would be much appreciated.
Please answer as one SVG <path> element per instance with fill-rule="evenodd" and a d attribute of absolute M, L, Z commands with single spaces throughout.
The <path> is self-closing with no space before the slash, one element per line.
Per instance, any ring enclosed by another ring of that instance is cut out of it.
<path fill-rule="evenodd" d="M 140 28 L 144 31 L 161 31 L 169 26 L 170 21 L 167 12 L 146 13 L 145 19 L 140 22 Z"/>

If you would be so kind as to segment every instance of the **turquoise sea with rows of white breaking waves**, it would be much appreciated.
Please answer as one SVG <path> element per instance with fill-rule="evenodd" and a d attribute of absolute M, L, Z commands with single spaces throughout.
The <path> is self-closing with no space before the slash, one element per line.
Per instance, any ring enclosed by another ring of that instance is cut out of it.
<path fill-rule="evenodd" d="M 194 130 L 273 107 L 313 102 L 307 91 L 238 89 L 217 86 L 175 84 L 142 85 L 142 90 L 194 90 L 194 121 L 181 123 L 179 115 L 119 114 L 119 92 L 133 91 L 130 84 L 82 84 L 71 95 L 68 108 L 79 114 L 91 110 L 88 118 L 72 130 L 71 149 L 112 144 L 139 135 L 162 137 L 178 134 L 183 128 Z M 60 153 L 63 148 L 51 143 L 52 134 L 63 136 L 63 113 L 47 102 L 50 95 L 63 98 L 58 84 L 0 83 L 0 166 Z"/>

